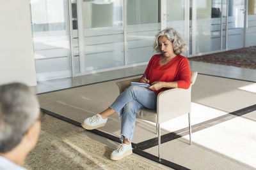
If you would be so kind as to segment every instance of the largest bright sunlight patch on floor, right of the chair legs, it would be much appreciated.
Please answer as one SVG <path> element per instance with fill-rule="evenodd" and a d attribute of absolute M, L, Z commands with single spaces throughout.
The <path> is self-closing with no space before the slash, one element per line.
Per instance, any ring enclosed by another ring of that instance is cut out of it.
<path fill-rule="evenodd" d="M 192 139 L 197 145 L 256 167 L 255 129 L 255 121 L 237 117 L 195 132 L 192 134 Z M 189 139 L 189 136 L 184 138 Z"/>

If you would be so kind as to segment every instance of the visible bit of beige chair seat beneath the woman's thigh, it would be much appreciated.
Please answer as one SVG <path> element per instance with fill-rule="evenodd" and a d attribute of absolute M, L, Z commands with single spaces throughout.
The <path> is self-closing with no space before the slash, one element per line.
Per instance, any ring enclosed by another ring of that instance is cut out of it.
<path fill-rule="evenodd" d="M 156 123 L 157 113 L 156 110 L 141 109 L 136 113 L 136 118 L 141 118 L 143 120 Z"/>

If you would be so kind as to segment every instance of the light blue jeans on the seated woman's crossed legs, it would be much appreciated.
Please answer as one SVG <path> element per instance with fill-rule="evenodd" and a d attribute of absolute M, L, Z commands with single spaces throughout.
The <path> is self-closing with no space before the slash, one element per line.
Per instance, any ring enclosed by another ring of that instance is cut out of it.
<path fill-rule="evenodd" d="M 130 85 L 120 94 L 109 108 L 118 112 L 122 117 L 121 139 L 125 136 L 132 141 L 136 113 L 141 108 L 156 109 L 157 95 L 155 92 L 138 85 Z"/>

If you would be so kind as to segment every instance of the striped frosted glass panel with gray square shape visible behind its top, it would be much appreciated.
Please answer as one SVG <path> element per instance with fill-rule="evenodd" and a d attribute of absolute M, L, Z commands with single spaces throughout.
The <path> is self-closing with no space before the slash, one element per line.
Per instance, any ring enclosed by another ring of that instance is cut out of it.
<path fill-rule="evenodd" d="M 85 70 L 124 66 L 122 0 L 83 0 Z"/>

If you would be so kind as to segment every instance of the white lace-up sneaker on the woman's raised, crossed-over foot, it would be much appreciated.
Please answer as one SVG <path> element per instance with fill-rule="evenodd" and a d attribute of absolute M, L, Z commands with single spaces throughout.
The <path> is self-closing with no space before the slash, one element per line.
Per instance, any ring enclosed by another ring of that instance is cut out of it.
<path fill-rule="evenodd" d="M 84 119 L 81 124 L 84 129 L 92 130 L 106 125 L 108 118 L 102 118 L 100 114 Z"/>

